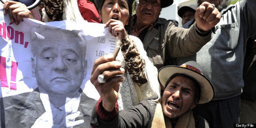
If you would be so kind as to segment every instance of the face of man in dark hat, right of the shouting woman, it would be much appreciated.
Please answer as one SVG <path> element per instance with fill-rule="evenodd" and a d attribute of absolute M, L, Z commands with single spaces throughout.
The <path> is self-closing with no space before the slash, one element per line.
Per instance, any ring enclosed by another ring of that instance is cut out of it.
<path fill-rule="evenodd" d="M 161 0 L 139 0 L 136 15 L 137 23 L 149 25 L 154 23 L 160 15 Z"/>

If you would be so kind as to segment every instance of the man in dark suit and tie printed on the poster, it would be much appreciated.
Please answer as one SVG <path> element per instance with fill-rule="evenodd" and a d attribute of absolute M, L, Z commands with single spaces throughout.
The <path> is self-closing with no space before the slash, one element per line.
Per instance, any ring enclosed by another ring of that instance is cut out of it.
<path fill-rule="evenodd" d="M 80 88 L 87 70 L 84 34 L 40 24 L 31 29 L 31 51 L 38 88 L 0 99 L 1 127 L 90 127 L 97 101 Z"/>

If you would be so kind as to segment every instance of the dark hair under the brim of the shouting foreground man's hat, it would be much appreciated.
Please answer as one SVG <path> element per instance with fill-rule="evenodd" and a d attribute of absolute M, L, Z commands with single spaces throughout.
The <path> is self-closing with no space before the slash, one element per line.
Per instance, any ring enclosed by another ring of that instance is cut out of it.
<path fill-rule="evenodd" d="M 189 78 L 191 79 L 194 83 L 195 83 L 195 97 L 194 97 L 194 100 L 198 99 L 197 103 L 199 102 L 200 100 L 200 94 L 201 94 L 201 89 L 200 89 L 200 84 L 199 82 L 196 81 L 196 79 L 194 79 L 193 77 L 190 77 L 188 75 L 185 75 L 185 74 L 180 74 L 180 73 L 174 73 L 172 76 L 170 76 L 170 78 L 166 81 L 166 84 L 164 86 L 164 89 L 166 89 L 166 86 L 169 84 L 169 82 L 174 78 L 174 77 L 177 77 L 177 76 L 182 76 L 182 77 L 186 77 L 186 78 Z"/>

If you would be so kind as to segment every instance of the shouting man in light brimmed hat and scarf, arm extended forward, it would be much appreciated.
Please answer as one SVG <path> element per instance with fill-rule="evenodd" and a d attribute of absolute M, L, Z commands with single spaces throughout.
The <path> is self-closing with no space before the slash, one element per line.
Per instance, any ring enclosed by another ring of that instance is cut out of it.
<path fill-rule="evenodd" d="M 113 64 L 114 65 L 114 64 Z M 115 77 L 121 71 L 112 71 Z M 193 115 L 196 104 L 209 102 L 214 97 L 214 88 L 202 75 L 194 61 L 181 66 L 165 66 L 159 70 L 159 82 L 165 85 L 162 99 L 146 99 L 137 106 L 118 111 L 118 87 L 123 79 L 108 84 L 95 85 L 101 98 L 92 112 L 91 125 L 115 128 L 205 128 L 207 121 Z"/>

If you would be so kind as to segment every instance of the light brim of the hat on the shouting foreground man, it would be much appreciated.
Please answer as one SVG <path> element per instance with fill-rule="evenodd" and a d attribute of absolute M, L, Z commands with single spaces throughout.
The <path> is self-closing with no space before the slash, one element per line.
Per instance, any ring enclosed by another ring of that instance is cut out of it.
<path fill-rule="evenodd" d="M 204 104 L 210 102 L 215 95 L 214 87 L 212 82 L 207 79 L 204 75 L 197 73 L 194 70 L 181 66 L 165 66 L 159 69 L 158 79 L 159 82 L 164 86 L 167 80 L 175 73 L 185 74 L 196 79 L 200 84 L 201 95 L 198 104 Z"/>

